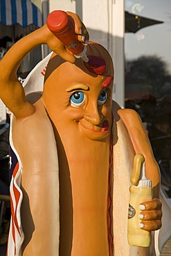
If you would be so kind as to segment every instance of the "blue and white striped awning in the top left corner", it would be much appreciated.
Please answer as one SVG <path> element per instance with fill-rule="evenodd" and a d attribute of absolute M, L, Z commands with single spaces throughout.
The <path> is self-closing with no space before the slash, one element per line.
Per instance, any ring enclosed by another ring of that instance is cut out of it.
<path fill-rule="evenodd" d="M 0 0 L 0 23 L 5 26 L 42 26 L 42 13 L 30 0 Z"/>

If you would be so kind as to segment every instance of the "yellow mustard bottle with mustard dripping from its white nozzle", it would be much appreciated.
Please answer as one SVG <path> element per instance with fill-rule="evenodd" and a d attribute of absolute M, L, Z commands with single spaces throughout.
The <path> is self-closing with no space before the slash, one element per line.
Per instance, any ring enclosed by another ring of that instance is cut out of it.
<path fill-rule="evenodd" d="M 129 188 L 129 210 L 127 221 L 127 240 L 132 246 L 149 247 L 151 244 L 151 234 L 140 228 L 141 210 L 139 205 L 143 201 L 152 199 L 152 181 L 145 175 L 145 159 L 142 154 L 134 157 L 134 168 L 131 176 L 132 185 Z"/>

